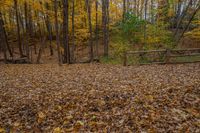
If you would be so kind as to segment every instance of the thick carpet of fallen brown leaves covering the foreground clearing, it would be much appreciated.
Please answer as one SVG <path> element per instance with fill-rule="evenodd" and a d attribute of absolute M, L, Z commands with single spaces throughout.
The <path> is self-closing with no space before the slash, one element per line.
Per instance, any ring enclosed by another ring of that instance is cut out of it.
<path fill-rule="evenodd" d="M 1 65 L 0 132 L 200 132 L 200 64 Z"/>

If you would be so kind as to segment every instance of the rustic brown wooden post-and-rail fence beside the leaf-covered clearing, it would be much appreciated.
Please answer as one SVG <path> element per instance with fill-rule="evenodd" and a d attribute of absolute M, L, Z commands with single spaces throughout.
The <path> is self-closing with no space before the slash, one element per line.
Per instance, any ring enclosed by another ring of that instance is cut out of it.
<path fill-rule="evenodd" d="M 124 59 L 123 59 L 124 66 L 128 65 L 128 56 L 130 55 L 137 56 L 138 58 L 149 57 L 153 59 L 149 63 L 139 63 L 139 64 L 188 63 L 189 61 L 177 62 L 177 61 L 173 61 L 172 59 L 180 58 L 180 57 L 194 57 L 194 56 L 197 57 L 198 60 L 190 61 L 190 62 L 200 62 L 200 48 L 127 51 L 124 53 Z"/>

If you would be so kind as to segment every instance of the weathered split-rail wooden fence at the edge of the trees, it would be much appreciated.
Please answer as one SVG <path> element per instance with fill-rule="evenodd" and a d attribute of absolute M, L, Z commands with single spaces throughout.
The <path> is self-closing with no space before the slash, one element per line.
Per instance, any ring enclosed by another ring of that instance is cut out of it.
<path fill-rule="evenodd" d="M 171 62 L 170 59 L 177 57 L 193 57 L 200 56 L 200 48 L 191 48 L 191 49 L 161 49 L 161 50 L 149 50 L 149 51 L 126 51 L 124 53 L 123 64 L 124 66 L 128 65 L 128 56 L 139 55 L 140 57 L 144 57 L 145 55 L 151 54 L 161 54 L 164 57 L 164 61 L 161 62 L 151 62 L 150 64 L 167 64 L 167 63 L 179 63 L 179 62 Z M 194 62 L 200 62 L 200 59 Z M 181 62 L 187 63 L 187 62 Z"/>

